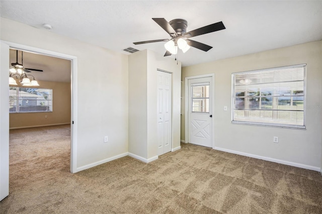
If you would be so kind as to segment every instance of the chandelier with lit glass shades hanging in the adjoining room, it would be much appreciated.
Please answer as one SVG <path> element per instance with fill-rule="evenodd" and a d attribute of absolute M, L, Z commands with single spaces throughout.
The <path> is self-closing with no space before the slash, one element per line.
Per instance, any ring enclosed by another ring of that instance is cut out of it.
<path fill-rule="evenodd" d="M 21 52 L 21 64 L 18 63 L 18 50 L 16 59 L 16 63 L 11 63 L 12 66 L 9 67 L 9 85 L 18 85 L 18 80 L 23 86 L 39 86 L 33 75 L 26 74 L 26 72 L 30 71 L 26 70 L 23 66 L 24 52 Z"/>

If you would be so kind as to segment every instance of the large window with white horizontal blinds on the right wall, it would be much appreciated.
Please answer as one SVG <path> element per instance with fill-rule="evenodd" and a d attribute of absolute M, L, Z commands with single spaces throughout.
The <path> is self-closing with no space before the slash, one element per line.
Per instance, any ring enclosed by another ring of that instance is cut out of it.
<path fill-rule="evenodd" d="M 305 129 L 306 64 L 232 74 L 232 123 Z"/>

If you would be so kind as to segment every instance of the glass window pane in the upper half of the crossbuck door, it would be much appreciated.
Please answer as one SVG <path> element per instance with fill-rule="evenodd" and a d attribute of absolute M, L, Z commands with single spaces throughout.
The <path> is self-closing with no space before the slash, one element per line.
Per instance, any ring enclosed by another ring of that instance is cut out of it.
<path fill-rule="evenodd" d="M 209 113 L 209 82 L 191 84 L 192 112 Z"/>

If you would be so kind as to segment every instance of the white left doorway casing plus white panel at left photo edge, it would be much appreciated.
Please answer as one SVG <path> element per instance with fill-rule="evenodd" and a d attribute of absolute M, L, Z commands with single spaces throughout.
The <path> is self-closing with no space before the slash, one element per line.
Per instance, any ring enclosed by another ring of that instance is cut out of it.
<path fill-rule="evenodd" d="M 58 58 L 63 58 L 66 60 L 70 61 L 70 72 L 69 74 L 71 75 L 70 83 L 69 83 L 69 91 L 70 91 L 70 157 L 68 158 L 70 160 L 70 166 L 69 166 L 69 171 L 71 173 L 77 172 L 77 159 L 76 159 L 76 146 L 77 146 L 77 57 L 67 55 L 67 54 L 62 54 L 54 51 L 49 51 L 45 49 L 40 49 L 40 48 L 35 48 L 31 46 L 26 46 L 26 45 L 21 45 L 17 43 L 12 43 L 8 41 L 1 41 L 2 43 L 2 48 L 1 48 L 1 77 L 5 80 L 8 79 L 8 74 L 9 74 L 9 53 L 10 49 L 15 49 L 15 50 L 22 50 L 24 52 L 33 52 L 36 54 L 42 54 L 46 56 L 52 56 L 52 57 L 58 57 Z M 8 81 L 8 80 L 7 80 Z M 4 82 L 4 81 L 3 81 Z M 5 89 L 5 84 L 2 87 L 2 91 L 6 91 Z M 8 86 L 7 86 L 8 87 Z M 7 93 L 8 94 L 8 93 Z M 8 106 L 9 105 L 9 98 L 5 97 L 6 93 L 2 93 L 2 106 Z M 8 95 L 7 95 L 8 96 Z M 5 109 L 3 109 L 5 110 Z M 7 129 L 9 130 L 9 108 L 1 112 L 3 116 L 8 114 L 8 120 L 2 121 L 2 129 Z M 7 118 L 7 117 L 5 117 Z M 9 134 L 9 132 L 8 132 Z M 1 141 L 1 146 L 2 146 L 2 157 L 1 157 L 1 162 L 2 162 L 2 167 L 1 167 L 1 176 L 0 176 L 0 181 L 1 181 L 1 186 L 2 186 L 2 195 L 1 197 L 4 198 L 6 194 L 9 194 L 9 136 L 6 138 L 6 136 L 3 138 Z M 8 148 L 8 149 L 6 149 Z M 4 149 L 4 150 L 3 150 Z M 8 177 L 7 177 L 8 176 Z M 4 190 L 4 191 L 3 191 Z"/>

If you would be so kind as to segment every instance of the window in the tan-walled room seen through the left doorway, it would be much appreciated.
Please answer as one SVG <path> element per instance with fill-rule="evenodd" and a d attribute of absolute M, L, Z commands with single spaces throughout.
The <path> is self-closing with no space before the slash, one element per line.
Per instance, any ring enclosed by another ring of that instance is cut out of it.
<path fill-rule="evenodd" d="M 52 112 L 52 89 L 10 87 L 9 112 Z"/>

